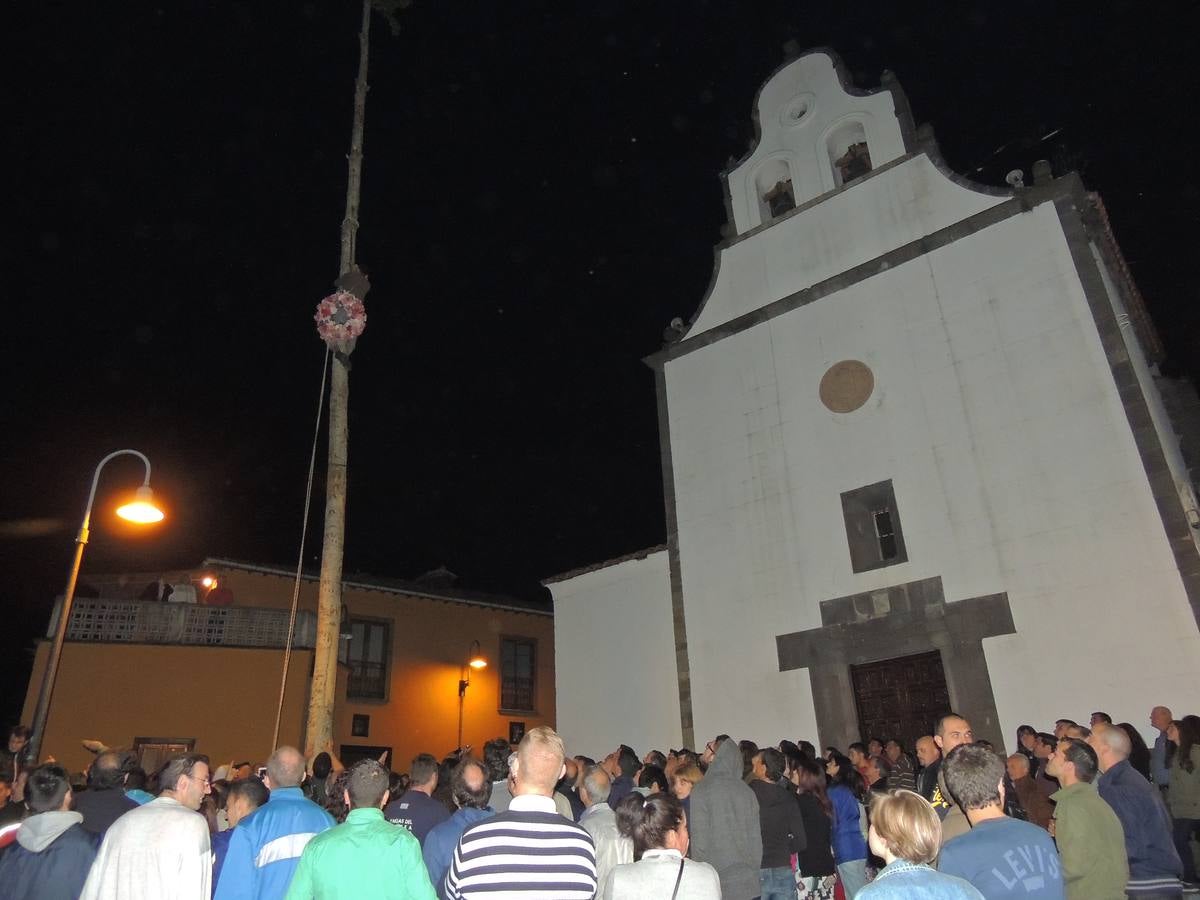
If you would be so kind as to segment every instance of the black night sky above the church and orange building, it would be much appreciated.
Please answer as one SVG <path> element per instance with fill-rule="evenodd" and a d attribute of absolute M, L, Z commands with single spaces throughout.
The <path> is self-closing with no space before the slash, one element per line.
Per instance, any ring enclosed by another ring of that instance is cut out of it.
<path fill-rule="evenodd" d="M 980 181 L 1039 157 L 1080 169 L 1168 365 L 1194 371 L 1183 120 L 1200 23 L 1183 5 L 1067 6 L 415 0 L 398 37 L 377 18 L 346 571 L 445 564 L 466 586 L 536 595 L 540 577 L 664 540 L 640 360 L 703 295 L 718 173 L 746 151 L 788 41 L 833 47 L 863 88 L 893 70 Z M 140 473 L 113 464 L 84 580 L 205 556 L 294 565 L 359 8 L 8 11 L 0 718 L 17 714 L 107 451 L 150 455 L 170 517 L 119 533 L 104 504 Z M 322 449 L 314 523 L 323 466 Z M 312 564 L 318 548 L 311 529 Z"/>

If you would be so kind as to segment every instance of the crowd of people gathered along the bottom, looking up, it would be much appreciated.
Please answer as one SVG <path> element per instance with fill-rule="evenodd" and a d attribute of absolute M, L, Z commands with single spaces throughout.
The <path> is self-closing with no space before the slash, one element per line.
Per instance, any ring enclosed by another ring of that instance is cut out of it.
<path fill-rule="evenodd" d="M 818 754 L 719 734 L 700 750 L 569 756 L 548 727 L 348 768 L 281 746 L 148 775 L 95 748 L 85 778 L 0 752 L 12 900 L 1158 900 L 1198 893 L 1200 716 L 1147 746 L 1103 712 L 1022 725 L 1007 758 L 941 716 Z"/>

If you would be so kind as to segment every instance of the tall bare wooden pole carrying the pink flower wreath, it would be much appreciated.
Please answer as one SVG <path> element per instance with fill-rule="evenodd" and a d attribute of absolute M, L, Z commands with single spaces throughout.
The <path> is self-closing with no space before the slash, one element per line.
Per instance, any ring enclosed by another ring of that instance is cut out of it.
<path fill-rule="evenodd" d="M 354 83 L 354 125 L 350 132 L 349 179 L 346 185 L 346 216 L 342 218 L 342 258 L 338 284 L 355 293 L 348 281 L 365 283 L 358 276 L 354 244 L 359 230 L 359 196 L 362 186 L 362 127 L 367 107 L 367 52 L 371 35 L 371 0 L 362 0 L 362 29 L 359 31 L 359 76 Z M 356 277 L 358 276 L 358 277 Z M 308 695 L 308 727 L 305 755 L 312 758 L 332 750 L 334 700 L 337 688 L 337 644 L 342 624 L 342 553 L 346 547 L 346 467 L 348 457 L 350 403 L 350 358 L 348 350 L 334 353 L 329 391 L 329 466 L 325 479 L 325 534 L 320 553 L 320 587 L 317 594 L 317 646 L 313 653 L 312 686 Z"/>

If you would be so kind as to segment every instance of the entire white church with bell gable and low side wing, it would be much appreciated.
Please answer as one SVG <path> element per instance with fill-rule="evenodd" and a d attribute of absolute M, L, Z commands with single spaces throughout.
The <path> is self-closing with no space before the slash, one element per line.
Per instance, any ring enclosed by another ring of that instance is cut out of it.
<path fill-rule="evenodd" d="M 569 745 L 911 742 L 953 708 L 1010 748 L 1186 706 L 1200 512 L 1099 197 L 970 182 L 826 50 L 755 112 L 736 235 L 647 360 L 667 542 L 546 582 L 594 660 L 556 667 Z"/>

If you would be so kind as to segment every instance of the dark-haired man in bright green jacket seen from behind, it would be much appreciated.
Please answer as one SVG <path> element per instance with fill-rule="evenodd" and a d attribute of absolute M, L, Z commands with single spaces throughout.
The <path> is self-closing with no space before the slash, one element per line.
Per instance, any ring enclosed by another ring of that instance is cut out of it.
<path fill-rule="evenodd" d="M 350 814 L 308 841 L 287 900 L 437 900 L 420 842 L 383 817 L 388 770 L 354 763 L 344 799 Z"/>

